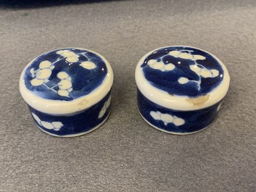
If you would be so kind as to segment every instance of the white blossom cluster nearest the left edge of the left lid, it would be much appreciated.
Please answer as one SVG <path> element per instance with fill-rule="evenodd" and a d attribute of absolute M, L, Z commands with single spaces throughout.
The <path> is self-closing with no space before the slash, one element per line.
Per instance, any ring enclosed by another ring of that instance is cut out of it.
<path fill-rule="evenodd" d="M 49 77 L 51 76 L 51 70 L 54 69 L 54 65 L 49 61 L 44 61 L 39 64 L 39 69 L 34 70 L 33 68 L 30 70 L 30 73 L 33 77 L 33 80 L 30 81 L 31 85 L 39 86 L 44 83 L 49 82 Z"/>

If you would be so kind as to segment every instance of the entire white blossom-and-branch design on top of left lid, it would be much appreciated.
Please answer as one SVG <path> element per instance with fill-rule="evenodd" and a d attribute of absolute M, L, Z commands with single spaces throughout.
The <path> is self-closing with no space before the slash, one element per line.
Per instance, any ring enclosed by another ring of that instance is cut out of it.
<path fill-rule="evenodd" d="M 59 96 L 69 97 L 70 92 L 73 91 L 73 85 L 72 85 L 70 75 L 68 75 L 67 72 L 61 71 L 57 74 L 57 78 L 60 79 L 57 85 L 49 87 L 48 85 L 46 85 L 46 83 L 49 82 L 49 78 L 51 77 L 52 70 L 54 70 L 54 67 L 55 67 L 54 64 L 61 61 L 62 59 L 65 59 L 66 62 L 73 64 L 73 62 L 78 62 L 79 55 L 83 55 L 83 57 L 86 57 L 85 55 L 86 52 L 75 54 L 73 51 L 66 49 L 66 50 L 57 51 L 56 54 L 60 55 L 56 61 L 51 63 L 48 60 L 46 60 L 39 64 L 38 70 L 35 70 L 34 68 L 30 69 L 30 74 L 33 78 L 32 80 L 30 80 L 30 83 L 35 87 L 44 85 L 49 90 L 59 94 Z M 89 62 L 89 61 L 81 62 L 79 65 L 86 70 L 94 70 L 96 68 L 96 64 L 94 64 L 94 62 Z M 54 89 L 56 87 L 59 87 L 58 91 Z"/>

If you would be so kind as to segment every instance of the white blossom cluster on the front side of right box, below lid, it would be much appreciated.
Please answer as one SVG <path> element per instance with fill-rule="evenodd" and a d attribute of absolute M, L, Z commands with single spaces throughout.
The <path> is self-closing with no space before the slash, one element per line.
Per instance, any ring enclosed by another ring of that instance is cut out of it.
<path fill-rule="evenodd" d="M 165 126 L 167 126 L 168 123 L 173 123 L 176 126 L 181 126 L 185 123 L 183 119 L 176 117 L 175 115 L 170 115 L 168 113 L 151 111 L 150 115 L 154 118 L 154 120 L 161 120 L 165 124 Z"/>

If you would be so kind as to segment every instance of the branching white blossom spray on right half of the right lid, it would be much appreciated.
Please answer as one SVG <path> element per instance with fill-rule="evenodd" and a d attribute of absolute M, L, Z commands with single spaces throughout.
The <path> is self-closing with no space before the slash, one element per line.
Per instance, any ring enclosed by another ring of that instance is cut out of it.
<path fill-rule="evenodd" d="M 194 61 L 194 64 L 191 64 L 189 66 L 190 70 L 195 72 L 199 80 L 189 80 L 188 78 L 181 77 L 178 79 L 178 83 L 185 84 L 189 82 L 197 83 L 197 90 L 201 89 L 201 78 L 215 78 L 219 75 L 218 70 L 208 70 L 205 66 L 202 64 L 198 64 L 197 60 L 205 60 L 206 58 L 199 54 L 192 54 L 193 51 L 191 50 L 181 50 L 181 51 L 170 51 L 169 54 L 176 58 L 181 59 L 189 59 L 191 61 Z"/>

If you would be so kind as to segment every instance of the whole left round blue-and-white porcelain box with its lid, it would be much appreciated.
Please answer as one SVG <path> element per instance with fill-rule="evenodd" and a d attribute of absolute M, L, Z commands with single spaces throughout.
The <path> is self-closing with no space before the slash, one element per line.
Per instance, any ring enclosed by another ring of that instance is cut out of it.
<path fill-rule="evenodd" d="M 73 137 L 107 120 L 112 83 L 110 63 L 100 54 L 65 48 L 33 59 L 20 76 L 20 93 L 38 128 Z"/>

